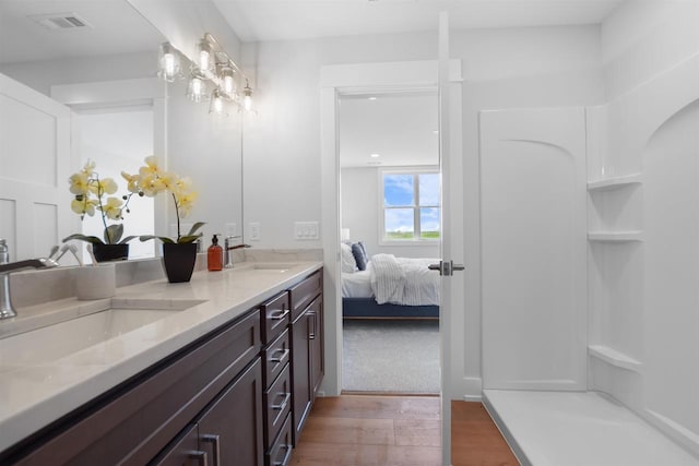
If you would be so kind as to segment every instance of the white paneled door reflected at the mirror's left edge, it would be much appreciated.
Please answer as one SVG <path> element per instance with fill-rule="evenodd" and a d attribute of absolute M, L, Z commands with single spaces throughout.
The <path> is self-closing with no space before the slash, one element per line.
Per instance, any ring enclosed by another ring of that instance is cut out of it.
<path fill-rule="evenodd" d="M 75 232 L 70 167 L 70 109 L 0 74 L 0 238 L 12 262 Z"/>

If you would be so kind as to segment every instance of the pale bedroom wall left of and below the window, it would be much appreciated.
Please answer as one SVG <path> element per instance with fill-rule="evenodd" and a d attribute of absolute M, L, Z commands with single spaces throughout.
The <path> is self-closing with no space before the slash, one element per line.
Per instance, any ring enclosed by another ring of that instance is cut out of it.
<path fill-rule="evenodd" d="M 439 244 L 379 244 L 379 174 L 378 168 L 343 168 L 342 227 L 350 228 L 351 240 L 362 241 L 369 256 L 378 253 L 401 258 L 438 258 Z"/>

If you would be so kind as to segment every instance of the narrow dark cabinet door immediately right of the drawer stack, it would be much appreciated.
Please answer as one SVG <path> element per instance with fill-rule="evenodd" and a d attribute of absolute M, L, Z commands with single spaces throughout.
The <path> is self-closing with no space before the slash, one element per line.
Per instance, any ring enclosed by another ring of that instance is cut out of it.
<path fill-rule="evenodd" d="M 304 421 L 310 410 L 310 323 L 308 312 L 304 312 L 292 325 L 294 446 L 298 444 Z"/>

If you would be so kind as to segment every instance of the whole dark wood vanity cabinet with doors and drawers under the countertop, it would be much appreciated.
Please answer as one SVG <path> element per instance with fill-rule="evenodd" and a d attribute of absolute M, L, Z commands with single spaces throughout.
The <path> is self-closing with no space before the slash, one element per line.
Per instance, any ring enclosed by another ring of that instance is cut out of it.
<path fill-rule="evenodd" d="M 323 373 L 321 276 L 0 452 L 0 464 L 288 465 Z"/>

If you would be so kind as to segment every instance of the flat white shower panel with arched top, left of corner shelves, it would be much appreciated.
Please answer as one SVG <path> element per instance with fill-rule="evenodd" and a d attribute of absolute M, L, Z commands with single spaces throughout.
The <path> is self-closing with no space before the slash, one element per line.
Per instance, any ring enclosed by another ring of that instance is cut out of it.
<path fill-rule="evenodd" d="M 481 113 L 483 385 L 587 389 L 582 108 Z"/>

